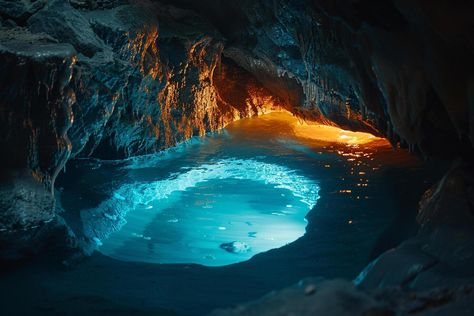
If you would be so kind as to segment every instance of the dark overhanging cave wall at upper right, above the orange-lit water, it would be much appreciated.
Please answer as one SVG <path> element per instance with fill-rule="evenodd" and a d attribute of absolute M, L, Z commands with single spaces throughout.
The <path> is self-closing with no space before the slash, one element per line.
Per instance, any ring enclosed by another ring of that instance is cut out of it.
<path fill-rule="evenodd" d="M 228 40 L 224 56 L 304 117 L 425 157 L 472 154 L 472 3 L 165 2 L 210 19 Z"/>

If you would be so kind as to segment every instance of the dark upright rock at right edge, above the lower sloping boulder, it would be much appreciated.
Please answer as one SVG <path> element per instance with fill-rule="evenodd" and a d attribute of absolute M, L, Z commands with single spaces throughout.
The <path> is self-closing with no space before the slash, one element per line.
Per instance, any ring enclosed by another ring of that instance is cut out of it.
<path fill-rule="evenodd" d="M 453 268 L 474 265 L 473 190 L 472 162 L 457 161 L 420 202 L 423 250 Z"/>

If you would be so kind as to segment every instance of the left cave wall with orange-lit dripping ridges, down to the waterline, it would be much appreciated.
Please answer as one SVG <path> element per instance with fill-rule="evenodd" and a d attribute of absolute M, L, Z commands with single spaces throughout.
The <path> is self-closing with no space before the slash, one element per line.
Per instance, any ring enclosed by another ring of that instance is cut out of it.
<path fill-rule="evenodd" d="M 256 80 L 238 83 L 238 67 L 221 63 L 222 36 L 187 10 L 0 1 L 0 16 L 6 257 L 29 248 L 28 238 L 19 245 L 13 236 L 36 238 L 58 224 L 54 180 L 69 158 L 152 153 L 279 106 Z"/>

